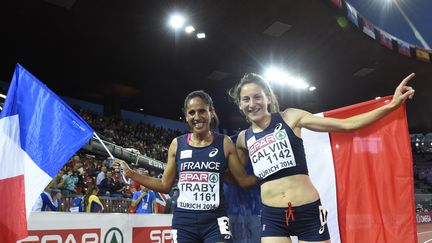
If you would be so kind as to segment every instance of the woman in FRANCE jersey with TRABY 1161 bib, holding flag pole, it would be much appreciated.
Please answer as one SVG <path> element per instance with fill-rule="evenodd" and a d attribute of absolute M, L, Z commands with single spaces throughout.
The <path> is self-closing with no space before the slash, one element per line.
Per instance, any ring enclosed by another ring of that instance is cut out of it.
<path fill-rule="evenodd" d="M 141 175 L 122 160 L 126 177 L 155 191 L 168 193 L 178 177 L 179 197 L 172 228 L 174 242 L 232 242 L 223 193 L 224 173 L 241 187 L 256 184 L 240 164 L 234 143 L 214 132 L 219 123 L 211 97 L 204 91 L 190 93 L 184 101 L 184 115 L 191 133 L 175 138 L 168 150 L 168 161 L 161 179 Z"/>

